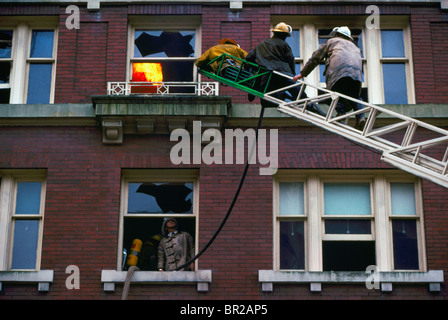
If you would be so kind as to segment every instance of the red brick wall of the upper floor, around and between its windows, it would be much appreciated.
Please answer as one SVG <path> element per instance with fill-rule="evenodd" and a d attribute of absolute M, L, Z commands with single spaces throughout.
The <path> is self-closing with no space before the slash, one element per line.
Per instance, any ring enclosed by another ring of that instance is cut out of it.
<path fill-rule="evenodd" d="M 382 15 L 410 15 L 417 103 L 447 103 L 444 75 L 448 15 L 439 4 L 428 7 L 380 5 Z M 31 11 L 22 9 L 20 12 Z M 364 5 L 272 5 L 245 6 L 232 12 L 227 5 L 130 5 L 103 6 L 100 13 L 81 8 L 81 28 L 65 28 L 65 7 L 60 11 L 56 103 L 89 102 L 91 95 L 105 94 L 108 81 L 126 79 L 127 14 L 129 15 L 202 15 L 202 52 L 221 37 L 234 38 L 250 51 L 269 37 L 271 15 L 365 15 Z M 41 7 L 36 7 L 42 12 Z M 48 7 L 54 14 L 54 7 Z M 9 8 L 6 14 L 18 12 Z M 17 13 L 16 13 L 17 14 Z M 431 54 L 428 54 L 431 52 Z M 78 77 L 79 76 L 79 77 Z M 204 77 L 205 80 L 207 78 Z M 221 86 L 222 95 L 231 95 L 234 103 L 249 103 L 247 94 Z M 258 103 L 256 99 L 253 103 Z"/>

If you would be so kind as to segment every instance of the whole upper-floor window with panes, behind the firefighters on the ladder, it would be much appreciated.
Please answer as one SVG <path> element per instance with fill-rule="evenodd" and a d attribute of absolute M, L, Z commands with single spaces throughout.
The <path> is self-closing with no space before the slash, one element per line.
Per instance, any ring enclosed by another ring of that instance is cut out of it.
<path fill-rule="evenodd" d="M 412 70 L 412 49 L 409 19 L 403 16 L 382 17 L 381 29 L 368 29 L 365 18 L 278 17 L 293 27 L 293 35 L 287 39 L 296 57 L 296 73 L 329 39 L 337 26 L 348 26 L 355 44 L 360 48 L 363 60 L 361 98 L 373 104 L 415 103 Z M 306 79 L 310 84 L 325 87 L 325 65 L 316 68 Z M 318 92 L 308 88 L 308 95 Z"/>

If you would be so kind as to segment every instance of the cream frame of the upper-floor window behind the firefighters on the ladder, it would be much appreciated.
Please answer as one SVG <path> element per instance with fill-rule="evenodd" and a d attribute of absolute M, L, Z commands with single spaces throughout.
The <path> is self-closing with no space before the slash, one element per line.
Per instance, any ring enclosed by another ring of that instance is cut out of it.
<path fill-rule="evenodd" d="M 415 104 L 415 84 L 412 57 L 411 25 L 409 16 L 392 15 L 381 16 L 381 29 L 368 29 L 366 27 L 367 15 L 357 16 L 273 16 L 272 25 L 285 22 L 293 28 L 300 30 L 301 39 L 301 69 L 311 58 L 313 52 L 319 47 L 319 29 L 333 29 L 336 26 L 348 26 L 350 29 L 361 29 L 363 36 L 363 88 L 367 88 L 369 102 L 372 104 L 385 104 L 384 81 L 382 74 L 382 64 L 387 62 L 404 61 L 406 66 L 407 104 Z M 384 59 L 381 51 L 381 30 L 402 29 L 404 36 L 405 58 Z M 367 40 L 368 39 L 368 40 Z M 305 45 L 306 43 L 306 45 Z M 325 87 L 325 83 L 320 82 L 320 71 L 317 66 L 305 78 L 306 82 L 318 84 Z M 381 79 L 380 81 L 378 79 Z M 306 88 L 308 96 L 316 96 L 317 90 Z"/>

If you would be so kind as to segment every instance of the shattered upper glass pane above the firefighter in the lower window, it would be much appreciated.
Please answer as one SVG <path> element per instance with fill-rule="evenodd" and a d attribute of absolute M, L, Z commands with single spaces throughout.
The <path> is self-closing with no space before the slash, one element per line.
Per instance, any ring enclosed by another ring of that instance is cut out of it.
<path fill-rule="evenodd" d="M 193 183 L 129 183 L 128 213 L 193 213 Z"/>

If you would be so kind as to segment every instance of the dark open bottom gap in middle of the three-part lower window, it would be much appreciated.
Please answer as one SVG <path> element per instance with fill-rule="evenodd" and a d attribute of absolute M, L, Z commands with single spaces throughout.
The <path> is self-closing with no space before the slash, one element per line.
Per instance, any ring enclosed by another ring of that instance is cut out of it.
<path fill-rule="evenodd" d="M 375 265 L 375 241 L 323 241 L 324 271 L 365 271 Z"/>

